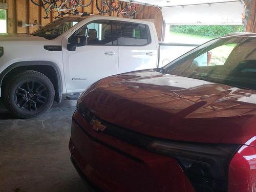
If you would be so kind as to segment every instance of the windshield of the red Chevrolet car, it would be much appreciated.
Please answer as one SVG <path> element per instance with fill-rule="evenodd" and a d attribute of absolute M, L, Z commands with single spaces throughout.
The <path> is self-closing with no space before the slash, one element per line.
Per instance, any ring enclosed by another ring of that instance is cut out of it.
<path fill-rule="evenodd" d="M 170 62 L 160 72 L 256 90 L 256 38 L 214 39 Z"/>

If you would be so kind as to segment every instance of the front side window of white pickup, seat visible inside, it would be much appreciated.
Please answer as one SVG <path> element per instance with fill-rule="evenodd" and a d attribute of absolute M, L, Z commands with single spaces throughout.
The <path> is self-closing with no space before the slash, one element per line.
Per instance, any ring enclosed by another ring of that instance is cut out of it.
<path fill-rule="evenodd" d="M 86 36 L 88 45 L 112 45 L 111 33 L 109 20 L 96 20 L 78 29 L 74 34 Z"/>

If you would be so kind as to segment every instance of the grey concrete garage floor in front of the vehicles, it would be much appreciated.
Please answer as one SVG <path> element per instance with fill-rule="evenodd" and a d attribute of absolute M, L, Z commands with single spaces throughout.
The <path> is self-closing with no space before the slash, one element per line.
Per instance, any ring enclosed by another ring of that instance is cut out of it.
<path fill-rule="evenodd" d="M 0 101 L 0 191 L 91 191 L 70 161 L 75 100 L 34 119 L 15 119 Z"/>

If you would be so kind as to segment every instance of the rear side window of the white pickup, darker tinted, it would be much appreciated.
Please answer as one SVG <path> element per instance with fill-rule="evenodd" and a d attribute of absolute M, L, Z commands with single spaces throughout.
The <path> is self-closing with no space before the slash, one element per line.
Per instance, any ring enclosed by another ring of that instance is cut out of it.
<path fill-rule="evenodd" d="M 113 32 L 113 44 L 118 44 L 118 46 L 144 46 L 150 43 L 147 25 L 130 22 L 118 23 Z"/>

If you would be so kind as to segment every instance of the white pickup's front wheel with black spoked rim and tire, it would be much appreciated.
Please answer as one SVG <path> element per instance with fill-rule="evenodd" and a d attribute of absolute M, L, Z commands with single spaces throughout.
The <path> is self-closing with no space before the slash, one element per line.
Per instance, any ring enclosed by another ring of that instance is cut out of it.
<path fill-rule="evenodd" d="M 42 73 L 25 70 L 13 75 L 5 85 L 4 103 L 17 118 L 33 118 L 46 112 L 54 100 L 54 87 Z"/>

